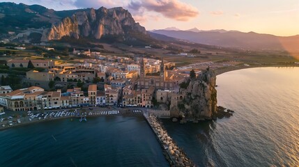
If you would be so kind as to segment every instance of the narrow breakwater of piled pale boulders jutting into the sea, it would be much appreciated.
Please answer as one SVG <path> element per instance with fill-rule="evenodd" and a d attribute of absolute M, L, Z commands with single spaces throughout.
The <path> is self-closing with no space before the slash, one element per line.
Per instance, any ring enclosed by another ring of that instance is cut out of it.
<path fill-rule="evenodd" d="M 170 166 L 194 166 L 194 163 L 187 157 L 183 149 L 179 148 L 176 142 L 167 134 L 166 129 L 161 125 L 157 116 L 145 112 L 144 118 L 146 118 L 158 138 Z"/>

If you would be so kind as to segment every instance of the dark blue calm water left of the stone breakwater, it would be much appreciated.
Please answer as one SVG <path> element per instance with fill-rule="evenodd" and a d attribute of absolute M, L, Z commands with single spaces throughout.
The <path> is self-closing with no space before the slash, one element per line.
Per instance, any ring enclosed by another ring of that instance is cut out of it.
<path fill-rule="evenodd" d="M 1 131 L 0 166 L 169 165 L 143 117 L 108 116 Z"/>

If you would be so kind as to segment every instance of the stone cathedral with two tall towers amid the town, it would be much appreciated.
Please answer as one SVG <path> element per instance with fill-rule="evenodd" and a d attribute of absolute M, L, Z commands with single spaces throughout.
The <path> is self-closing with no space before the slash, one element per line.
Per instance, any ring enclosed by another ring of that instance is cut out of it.
<path fill-rule="evenodd" d="M 144 58 L 142 58 L 140 64 L 140 77 L 137 80 L 137 88 L 149 88 L 150 86 L 153 86 L 155 89 L 174 90 L 176 82 L 172 78 L 173 76 L 169 77 L 167 70 L 165 70 L 163 59 L 160 63 L 159 76 L 146 75 L 146 63 L 144 63 Z"/>

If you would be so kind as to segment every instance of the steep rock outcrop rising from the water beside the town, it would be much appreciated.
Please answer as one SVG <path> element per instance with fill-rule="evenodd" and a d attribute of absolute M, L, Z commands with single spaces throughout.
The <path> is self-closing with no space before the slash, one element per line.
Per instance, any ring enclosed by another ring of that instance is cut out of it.
<path fill-rule="evenodd" d="M 216 75 L 213 70 L 202 72 L 190 81 L 186 89 L 181 89 L 177 100 L 171 99 L 171 111 L 190 119 L 211 119 L 217 114 Z M 173 105 L 174 104 L 174 105 Z M 177 107 L 176 107 L 177 106 Z"/>

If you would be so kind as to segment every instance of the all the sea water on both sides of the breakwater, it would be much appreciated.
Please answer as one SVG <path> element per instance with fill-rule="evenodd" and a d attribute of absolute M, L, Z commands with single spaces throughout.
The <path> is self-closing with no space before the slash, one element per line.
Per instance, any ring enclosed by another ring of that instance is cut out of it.
<path fill-rule="evenodd" d="M 162 120 L 197 166 L 299 166 L 299 67 L 217 76 L 230 118 Z M 0 132 L 0 166 L 169 166 L 142 116 L 55 120 Z"/>

